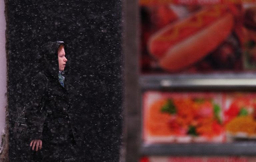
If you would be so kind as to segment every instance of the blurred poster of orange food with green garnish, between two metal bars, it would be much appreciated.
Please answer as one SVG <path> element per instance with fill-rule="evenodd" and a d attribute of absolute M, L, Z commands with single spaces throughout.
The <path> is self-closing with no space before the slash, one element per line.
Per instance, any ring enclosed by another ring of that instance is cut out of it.
<path fill-rule="evenodd" d="M 256 93 L 143 94 L 144 143 L 256 140 Z"/>

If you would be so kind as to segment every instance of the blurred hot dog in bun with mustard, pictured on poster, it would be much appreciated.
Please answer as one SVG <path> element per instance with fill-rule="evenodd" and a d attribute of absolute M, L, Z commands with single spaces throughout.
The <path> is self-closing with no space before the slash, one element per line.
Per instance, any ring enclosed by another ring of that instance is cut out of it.
<path fill-rule="evenodd" d="M 179 71 L 214 51 L 233 28 L 234 16 L 226 6 L 208 6 L 155 32 L 147 47 L 161 68 Z"/>

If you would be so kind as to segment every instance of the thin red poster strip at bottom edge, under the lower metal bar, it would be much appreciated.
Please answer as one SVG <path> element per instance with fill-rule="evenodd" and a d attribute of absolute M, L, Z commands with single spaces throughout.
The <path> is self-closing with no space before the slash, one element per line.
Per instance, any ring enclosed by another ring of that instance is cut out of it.
<path fill-rule="evenodd" d="M 140 162 L 255 162 L 256 157 L 143 157 Z"/>

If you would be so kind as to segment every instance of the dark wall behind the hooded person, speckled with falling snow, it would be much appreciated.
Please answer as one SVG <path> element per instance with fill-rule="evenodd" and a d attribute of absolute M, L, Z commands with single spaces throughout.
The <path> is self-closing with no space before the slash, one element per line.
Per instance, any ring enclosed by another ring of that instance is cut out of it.
<path fill-rule="evenodd" d="M 48 41 L 67 44 L 66 77 L 79 89 L 77 124 L 84 161 L 118 161 L 122 134 L 121 0 L 6 0 L 8 104 L 10 124 L 15 105 L 37 73 L 37 49 Z M 10 159 L 17 145 L 10 128 Z"/>

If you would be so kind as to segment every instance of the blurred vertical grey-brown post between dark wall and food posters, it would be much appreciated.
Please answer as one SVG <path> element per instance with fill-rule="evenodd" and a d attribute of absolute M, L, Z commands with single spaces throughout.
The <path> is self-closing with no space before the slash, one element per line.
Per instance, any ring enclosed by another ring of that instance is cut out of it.
<path fill-rule="evenodd" d="M 124 162 L 137 162 L 140 158 L 140 85 L 139 85 L 139 5 L 138 0 L 123 1 L 124 52 L 124 136 L 121 150 Z"/>

